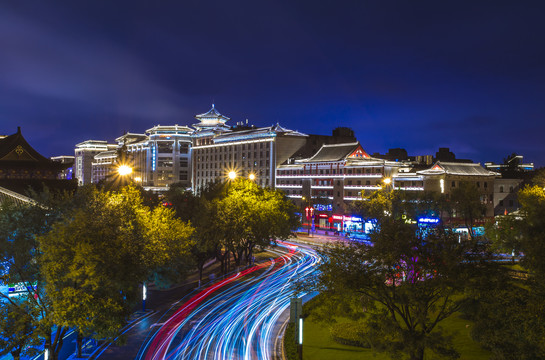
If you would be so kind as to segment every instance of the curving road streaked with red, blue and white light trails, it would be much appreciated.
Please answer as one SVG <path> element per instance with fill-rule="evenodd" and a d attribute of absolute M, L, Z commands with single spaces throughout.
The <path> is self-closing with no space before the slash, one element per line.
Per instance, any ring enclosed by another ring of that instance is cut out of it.
<path fill-rule="evenodd" d="M 217 282 L 152 324 L 157 330 L 136 358 L 277 359 L 292 285 L 320 261 L 309 248 L 280 245 L 276 259 Z"/>

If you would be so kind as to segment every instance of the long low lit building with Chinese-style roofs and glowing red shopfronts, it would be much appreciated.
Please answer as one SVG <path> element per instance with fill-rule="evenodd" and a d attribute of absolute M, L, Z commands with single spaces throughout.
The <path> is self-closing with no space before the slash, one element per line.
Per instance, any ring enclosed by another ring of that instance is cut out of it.
<path fill-rule="evenodd" d="M 372 157 L 358 142 L 325 144 L 309 158 L 292 158 L 280 165 L 276 187 L 294 199 L 300 209 L 313 207 L 315 226 L 323 229 L 345 230 L 356 224 L 357 217 L 349 214 L 348 205 L 373 191 L 431 191 L 448 197 L 461 181 L 475 184 L 486 206 L 483 215 L 493 215 L 494 179 L 498 174 L 480 164 L 436 162 L 430 167 L 419 160 Z M 360 229 L 369 226 L 361 219 L 357 224 Z"/>

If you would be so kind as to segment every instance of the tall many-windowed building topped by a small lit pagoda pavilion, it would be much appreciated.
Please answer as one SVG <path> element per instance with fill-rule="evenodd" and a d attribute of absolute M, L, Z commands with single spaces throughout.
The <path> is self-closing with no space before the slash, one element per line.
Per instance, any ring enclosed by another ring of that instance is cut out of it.
<path fill-rule="evenodd" d="M 306 144 L 308 135 L 280 125 L 256 128 L 239 123 L 229 127 L 228 117 L 214 106 L 195 116 L 193 134 L 193 189 L 224 181 L 229 172 L 249 177 L 261 186 L 274 187 L 276 167 Z"/>

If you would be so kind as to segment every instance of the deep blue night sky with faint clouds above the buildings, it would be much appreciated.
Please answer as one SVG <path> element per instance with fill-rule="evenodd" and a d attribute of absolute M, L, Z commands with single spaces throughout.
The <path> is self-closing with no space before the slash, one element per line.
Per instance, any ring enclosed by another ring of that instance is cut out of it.
<path fill-rule="evenodd" d="M 45 156 L 229 124 L 545 165 L 545 1 L 5 1 L 0 134 Z"/>

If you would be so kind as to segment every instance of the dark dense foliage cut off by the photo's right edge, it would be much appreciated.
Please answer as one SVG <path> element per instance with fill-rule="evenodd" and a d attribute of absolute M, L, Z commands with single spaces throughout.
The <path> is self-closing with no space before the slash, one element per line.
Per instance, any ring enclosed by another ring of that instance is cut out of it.
<path fill-rule="evenodd" d="M 520 212 L 498 217 L 487 235 L 496 248 L 524 254 L 520 265 L 528 277 L 503 279 L 468 311 L 475 321 L 472 337 L 493 359 L 545 358 L 545 190 L 527 186 L 518 198 Z"/>

